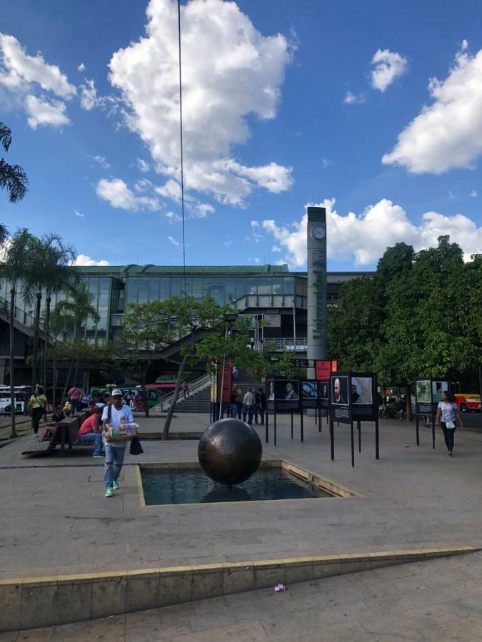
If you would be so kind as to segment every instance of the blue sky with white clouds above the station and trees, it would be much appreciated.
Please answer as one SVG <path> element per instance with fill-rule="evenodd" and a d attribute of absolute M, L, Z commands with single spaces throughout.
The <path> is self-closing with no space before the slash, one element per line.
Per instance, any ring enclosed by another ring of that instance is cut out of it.
<path fill-rule="evenodd" d="M 79 263 L 179 265 L 176 4 L 2 4 L 0 119 L 30 192 L 0 195 L 1 222 Z M 482 252 L 480 4 L 191 0 L 181 20 L 186 263 L 303 269 L 307 203 L 331 270 L 442 233 Z"/>

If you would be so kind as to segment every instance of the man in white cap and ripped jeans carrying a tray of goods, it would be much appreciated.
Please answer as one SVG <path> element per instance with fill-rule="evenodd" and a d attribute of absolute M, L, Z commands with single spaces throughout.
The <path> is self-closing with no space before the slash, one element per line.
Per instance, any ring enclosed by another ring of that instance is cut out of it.
<path fill-rule="evenodd" d="M 112 391 L 112 403 L 104 407 L 102 411 L 102 436 L 104 437 L 104 449 L 106 451 L 106 466 L 104 481 L 106 484 L 106 497 L 111 497 L 114 490 L 119 489 L 119 475 L 124 454 L 126 453 L 127 442 L 109 442 L 106 437 L 109 427 L 119 428 L 121 424 L 134 423 L 132 409 L 122 403 L 122 392 L 118 388 Z"/>

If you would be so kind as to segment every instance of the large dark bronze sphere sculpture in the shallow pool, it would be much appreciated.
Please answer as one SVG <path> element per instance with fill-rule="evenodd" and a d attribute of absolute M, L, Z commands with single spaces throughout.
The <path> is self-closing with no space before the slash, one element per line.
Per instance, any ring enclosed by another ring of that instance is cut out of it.
<path fill-rule="evenodd" d="M 258 433 L 240 419 L 214 422 L 199 440 L 201 468 L 213 481 L 227 486 L 249 479 L 258 469 L 262 454 Z"/>

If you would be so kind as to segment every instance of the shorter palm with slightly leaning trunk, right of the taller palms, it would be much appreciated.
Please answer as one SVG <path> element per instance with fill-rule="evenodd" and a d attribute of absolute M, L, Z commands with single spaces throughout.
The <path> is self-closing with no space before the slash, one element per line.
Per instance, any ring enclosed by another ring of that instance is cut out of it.
<path fill-rule="evenodd" d="M 86 282 L 81 282 L 79 283 L 79 286 L 69 294 L 69 298 L 64 301 L 60 301 L 55 307 L 56 316 L 64 319 L 64 325 L 65 327 L 70 328 L 71 336 L 74 337 L 74 342 L 77 345 L 81 341 L 81 332 L 84 324 L 89 319 L 93 320 L 94 323 L 99 323 L 101 320 L 96 308 L 92 305 L 93 300 L 94 296 L 89 292 Z M 74 384 L 77 382 L 77 373 L 79 372 L 78 356 L 75 361 L 76 367 L 74 373 Z M 73 362 L 74 358 L 72 358 L 69 363 L 69 373 L 67 374 L 64 393 L 62 394 L 62 401 L 64 401 L 67 386 L 69 384 Z"/>

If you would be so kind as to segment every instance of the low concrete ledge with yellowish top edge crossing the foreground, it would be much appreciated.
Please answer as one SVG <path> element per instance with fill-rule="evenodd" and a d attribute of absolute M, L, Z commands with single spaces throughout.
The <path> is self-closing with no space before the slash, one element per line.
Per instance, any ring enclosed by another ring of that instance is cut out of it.
<path fill-rule="evenodd" d="M 0 631 L 102 618 L 119 613 L 474 553 L 472 546 L 161 567 L 0 580 Z"/>

